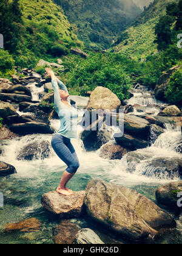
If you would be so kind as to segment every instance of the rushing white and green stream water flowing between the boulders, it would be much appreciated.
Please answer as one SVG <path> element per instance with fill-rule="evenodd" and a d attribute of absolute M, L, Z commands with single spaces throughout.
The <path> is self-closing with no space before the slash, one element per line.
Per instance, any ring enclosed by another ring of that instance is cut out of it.
<path fill-rule="evenodd" d="M 32 90 L 33 101 L 39 101 L 39 93 L 42 93 L 43 86 L 38 88 L 35 84 L 30 84 Z M 134 108 L 133 113 L 128 115 L 144 115 L 152 113 L 157 115 L 163 102 L 159 102 L 153 96 L 152 91 L 147 91 L 146 88 L 139 86 L 134 88 L 133 98 L 127 101 L 127 104 L 140 104 L 140 108 Z M 79 101 L 79 98 L 78 98 Z M 18 105 L 15 108 L 19 115 L 24 114 L 19 112 Z M 84 113 L 84 108 L 79 105 L 79 121 Z M 28 113 L 26 113 L 28 114 Z M 33 115 L 33 113 L 29 113 Z M 51 127 L 58 129 L 59 120 L 52 119 Z M 78 126 L 79 133 L 82 132 L 82 127 Z M 51 149 L 49 158 L 44 160 L 22 161 L 16 160 L 21 148 L 30 142 L 34 141 L 51 141 L 52 135 L 26 135 L 21 138 L 1 141 L 3 144 L 4 155 L 1 155 L 1 161 L 10 163 L 15 166 L 17 174 L 8 177 L 0 178 L 0 192 L 4 194 L 4 207 L 0 207 L 0 243 L 5 244 L 46 244 L 53 243 L 52 229 L 59 224 L 57 219 L 50 219 L 50 216 L 41 206 L 42 194 L 55 190 L 61 179 L 62 172 L 66 165 L 58 158 L 53 149 Z M 151 138 L 152 140 L 152 138 Z M 171 180 L 180 180 L 178 174 L 170 176 L 165 168 L 157 171 L 155 166 L 150 165 L 152 160 L 158 157 L 164 157 L 168 160 L 172 158 L 180 158 L 181 154 L 177 152 L 177 146 L 181 141 L 180 128 L 174 128 L 166 123 L 165 132 L 162 133 L 151 146 L 146 149 L 135 151 L 135 158 L 127 160 L 127 154 L 121 160 L 105 160 L 99 157 L 99 149 L 96 152 L 86 152 L 83 148 L 83 143 L 79 139 L 72 140 L 73 146 L 76 149 L 80 160 L 80 167 L 76 175 L 70 180 L 69 188 L 74 191 L 85 190 L 87 183 L 91 179 L 103 179 L 107 182 L 112 182 L 118 185 L 130 187 L 144 196 L 157 203 L 155 200 L 155 190 L 169 183 Z M 114 139 L 110 141 L 114 143 Z M 129 154 L 129 153 L 128 153 Z M 137 161 L 144 155 L 144 159 Z M 28 218 L 37 218 L 41 221 L 42 229 L 33 233 L 3 233 L 5 224 L 19 222 Z M 90 227 L 97 230 L 97 225 L 87 219 L 72 219 L 72 222 L 78 224 L 79 227 Z M 113 239 L 118 238 L 104 235 L 103 241 L 113 242 Z M 182 240 L 182 218 L 177 219 L 177 229 L 171 233 L 161 236 L 156 241 L 150 243 L 181 243 Z M 121 240 L 121 242 L 123 242 Z M 127 241 L 125 241 L 127 243 Z"/>

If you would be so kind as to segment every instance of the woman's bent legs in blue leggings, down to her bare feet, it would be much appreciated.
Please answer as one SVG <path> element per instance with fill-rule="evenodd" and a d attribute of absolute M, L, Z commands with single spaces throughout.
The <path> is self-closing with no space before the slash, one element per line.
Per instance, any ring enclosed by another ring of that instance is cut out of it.
<path fill-rule="evenodd" d="M 61 182 L 57 188 L 57 192 L 69 196 L 73 194 L 72 191 L 66 188 L 67 182 L 74 176 L 76 169 L 78 169 L 78 163 L 75 162 L 74 154 L 72 154 L 75 149 L 73 149 L 70 140 L 66 137 L 61 135 L 54 135 L 52 138 L 52 147 L 56 154 L 58 155 L 61 160 L 66 163 L 68 168 L 64 171 Z M 69 149 L 70 148 L 70 149 Z M 72 152 L 71 152 L 71 151 Z M 75 153 L 76 154 L 76 153 Z"/>

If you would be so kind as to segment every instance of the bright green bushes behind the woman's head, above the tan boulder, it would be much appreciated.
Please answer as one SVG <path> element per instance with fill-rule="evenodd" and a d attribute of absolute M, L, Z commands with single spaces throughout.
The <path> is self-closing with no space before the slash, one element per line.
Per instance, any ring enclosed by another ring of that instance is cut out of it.
<path fill-rule="evenodd" d="M 84 96 L 86 91 L 102 86 L 109 88 L 121 100 L 128 99 L 129 89 L 134 82 L 130 74 L 141 75 L 140 63 L 121 54 L 89 54 L 87 59 L 71 54 L 62 59 L 66 71 L 60 73 L 60 77 L 70 93 Z"/>

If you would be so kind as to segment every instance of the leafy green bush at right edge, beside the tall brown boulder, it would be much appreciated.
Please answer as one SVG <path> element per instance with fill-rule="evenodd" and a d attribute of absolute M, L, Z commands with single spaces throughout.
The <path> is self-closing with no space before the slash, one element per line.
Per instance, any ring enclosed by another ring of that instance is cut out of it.
<path fill-rule="evenodd" d="M 169 103 L 182 106 L 182 68 L 171 77 L 165 88 L 165 96 Z"/>

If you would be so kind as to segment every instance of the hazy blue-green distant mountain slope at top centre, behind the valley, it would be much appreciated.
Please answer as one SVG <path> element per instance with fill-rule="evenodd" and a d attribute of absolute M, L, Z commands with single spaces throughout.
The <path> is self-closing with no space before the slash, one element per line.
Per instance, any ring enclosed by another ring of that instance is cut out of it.
<path fill-rule="evenodd" d="M 141 13 L 132 0 L 55 0 L 70 23 L 78 27 L 78 38 L 89 48 L 107 49 L 112 40 Z"/>

